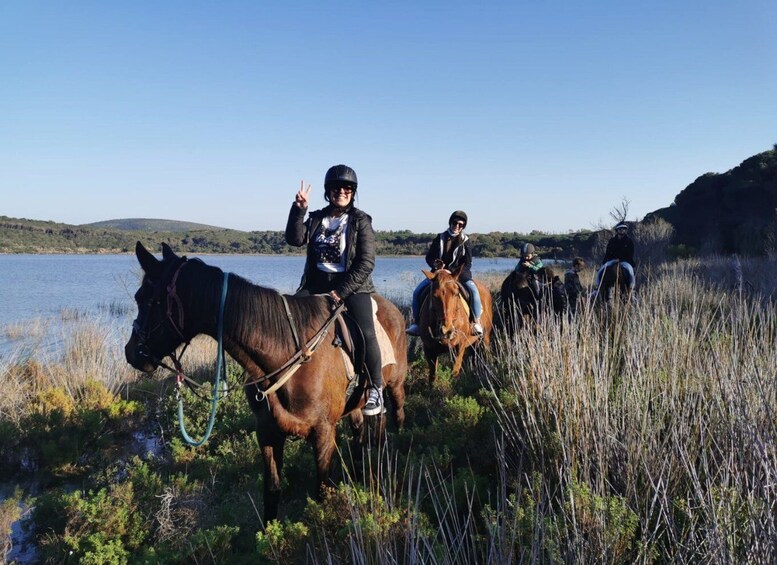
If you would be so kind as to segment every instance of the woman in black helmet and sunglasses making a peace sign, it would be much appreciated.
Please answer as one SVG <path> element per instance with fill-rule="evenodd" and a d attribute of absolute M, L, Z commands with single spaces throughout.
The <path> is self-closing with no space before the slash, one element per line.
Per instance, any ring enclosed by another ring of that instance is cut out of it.
<path fill-rule="evenodd" d="M 375 232 L 372 218 L 353 205 L 358 182 L 356 171 L 346 165 L 330 167 L 324 177 L 324 200 L 328 206 L 308 214 L 310 185 L 300 185 L 286 223 L 286 242 L 307 244 L 307 259 L 297 295 L 327 294 L 344 301 L 364 334 L 365 365 L 370 377 L 364 414 L 383 411 L 383 374 L 380 348 L 373 323 L 372 296 L 375 286 Z"/>

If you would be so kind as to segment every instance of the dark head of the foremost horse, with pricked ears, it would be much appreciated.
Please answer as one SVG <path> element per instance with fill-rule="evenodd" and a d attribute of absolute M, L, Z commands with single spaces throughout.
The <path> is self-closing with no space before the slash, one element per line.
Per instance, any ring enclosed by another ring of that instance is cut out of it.
<path fill-rule="evenodd" d="M 135 255 L 143 268 L 143 281 L 135 293 L 138 316 L 124 354 L 136 369 L 151 372 L 186 339 L 183 337 L 183 310 L 175 291 L 175 280 L 186 257 L 179 257 L 162 244 L 162 260 L 138 242 Z"/>

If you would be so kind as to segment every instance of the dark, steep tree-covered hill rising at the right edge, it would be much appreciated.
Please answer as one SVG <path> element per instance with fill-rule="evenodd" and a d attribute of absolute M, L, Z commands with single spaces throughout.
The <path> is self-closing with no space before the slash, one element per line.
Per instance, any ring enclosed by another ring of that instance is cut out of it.
<path fill-rule="evenodd" d="M 730 171 L 700 176 L 651 218 L 672 224 L 674 242 L 692 253 L 777 252 L 777 145 Z"/>

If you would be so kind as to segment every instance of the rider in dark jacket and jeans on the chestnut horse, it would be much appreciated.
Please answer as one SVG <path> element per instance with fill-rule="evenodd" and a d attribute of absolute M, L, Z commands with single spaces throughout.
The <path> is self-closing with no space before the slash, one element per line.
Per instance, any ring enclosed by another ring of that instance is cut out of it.
<path fill-rule="evenodd" d="M 448 229 L 438 234 L 429 246 L 426 263 L 431 267 L 432 272 L 440 269 L 452 272 L 462 267 L 459 280 L 467 287 L 472 296 L 472 315 L 475 318 L 472 330 L 477 335 L 483 335 L 483 326 L 480 325 L 483 306 L 480 302 L 478 287 L 472 280 L 472 250 L 469 246 L 469 237 L 464 233 L 465 227 L 467 227 L 467 214 L 462 210 L 456 210 L 448 219 Z M 421 329 L 418 327 L 421 296 L 430 284 L 432 281 L 424 278 L 413 291 L 413 323 L 406 330 L 408 335 L 421 335 Z"/>

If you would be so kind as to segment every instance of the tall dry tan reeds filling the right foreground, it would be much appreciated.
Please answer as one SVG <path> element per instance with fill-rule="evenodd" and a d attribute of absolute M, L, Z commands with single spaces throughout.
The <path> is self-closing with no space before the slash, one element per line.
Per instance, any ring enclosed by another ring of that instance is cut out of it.
<path fill-rule="evenodd" d="M 574 507 L 585 485 L 636 513 L 622 556 L 777 555 L 777 311 L 699 276 L 716 268 L 724 280 L 722 263 L 667 265 L 636 304 L 503 337 L 490 371 L 515 468 L 540 473 L 549 500 Z M 612 560 L 613 545 L 582 543 L 607 539 L 604 506 L 579 517 L 567 557 Z"/>

